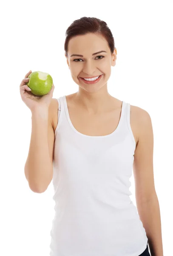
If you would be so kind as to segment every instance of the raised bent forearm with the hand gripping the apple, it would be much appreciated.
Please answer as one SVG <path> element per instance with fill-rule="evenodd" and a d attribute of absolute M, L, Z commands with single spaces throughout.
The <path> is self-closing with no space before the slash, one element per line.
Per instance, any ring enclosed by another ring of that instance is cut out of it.
<path fill-rule="evenodd" d="M 53 177 L 54 129 L 52 125 L 54 83 L 43 96 L 36 96 L 26 85 L 30 70 L 20 83 L 20 95 L 32 113 L 32 131 L 25 176 L 33 192 L 44 192 Z"/>

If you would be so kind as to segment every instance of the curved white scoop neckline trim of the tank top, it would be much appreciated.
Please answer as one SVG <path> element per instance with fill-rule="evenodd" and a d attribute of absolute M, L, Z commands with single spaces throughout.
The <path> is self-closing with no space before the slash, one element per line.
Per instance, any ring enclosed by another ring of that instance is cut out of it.
<path fill-rule="evenodd" d="M 122 108 L 121 108 L 120 119 L 119 119 L 119 123 L 118 123 L 116 129 L 115 129 L 111 134 L 102 135 L 102 136 L 90 136 L 90 135 L 82 134 L 82 133 L 80 133 L 79 131 L 77 131 L 76 128 L 74 128 L 74 126 L 73 126 L 73 124 L 72 124 L 72 122 L 71 122 L 71 119 L 70 119 L 69 112 L 68 112 L 68 105 L 67 105 L 66 96 L 65 96 L 65 95 L 62 96 L 62 99 L 63 99 L 64 108 L 65 108 L 65 113 L 66 113 L 66 116 L 67 116 L 67 119 L 68 119 L 68 123 L 69 123 L 69 125 L 71 126 L 71 128 L 73 129 L 73 131 L 75 131 L 77 134 L 79 134 L 79 135 L 81 135 L 81 136 L 84 136 L 84 137 L 88 137 L 88 138 L 106 138 L 106 137 L 112 136 L 113 134 L 116 134 L 116 132 L 119 131 L 119 128 L 120 128 L 121 123 L 122 123 L 122 120 L 123 120 L 124 111 L 125 111 L 125 102 L 124 102 L 124 101 L 122 101 Z"/>

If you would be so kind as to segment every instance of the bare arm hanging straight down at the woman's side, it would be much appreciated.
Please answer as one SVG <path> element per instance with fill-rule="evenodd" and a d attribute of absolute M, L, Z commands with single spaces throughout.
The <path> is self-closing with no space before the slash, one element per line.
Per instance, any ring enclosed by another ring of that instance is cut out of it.
<path fill-rule="evenodd" d="M 136 112 L 138 143 L 133 161 L 136 207 L 146 231 L 151 256 L 163 256 L 160 208 L 153 174 L 153 127 L 147 111 L 137 108 Z"/>

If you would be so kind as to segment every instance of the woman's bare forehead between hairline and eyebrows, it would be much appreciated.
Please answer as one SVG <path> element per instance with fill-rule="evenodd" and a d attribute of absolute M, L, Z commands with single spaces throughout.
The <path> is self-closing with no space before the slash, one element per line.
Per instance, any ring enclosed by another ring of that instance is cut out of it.
<path fill-rule="evenodd" d="M 68 53 L 71 54 L 89 54 L 99 50 L 108 52 L 108 42 L 99 35 L 89 33 L 86 35 L 77 35 L 68 42 Z"/>

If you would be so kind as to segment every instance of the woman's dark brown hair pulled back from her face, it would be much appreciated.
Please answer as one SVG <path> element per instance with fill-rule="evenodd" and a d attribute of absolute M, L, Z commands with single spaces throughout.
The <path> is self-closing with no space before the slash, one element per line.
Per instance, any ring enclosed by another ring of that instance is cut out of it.
<path fill-rule="evenodd" d="M 69 40 L 74 36 L 86 35 L 88 33 L 94 33 L 96 35 L 104 37 L 108 42 L 111 54 L 113 54 L 113 51 L 115 49 L 114 38 L 111 30 L 108 28 L 107 23 L 95 17 L 82 17 L 78 20 L 74 20 L 65 32 L 66 38 L 64 49 L 66 57 L 68 57 Z"/>

